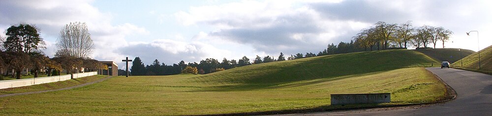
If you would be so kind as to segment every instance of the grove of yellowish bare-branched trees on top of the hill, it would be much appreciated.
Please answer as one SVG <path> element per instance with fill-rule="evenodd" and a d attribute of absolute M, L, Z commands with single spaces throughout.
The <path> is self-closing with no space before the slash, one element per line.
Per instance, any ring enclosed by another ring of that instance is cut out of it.
<path fill-rule="evenodd" d="M 410 21 L 401 24 L 377 22 L 374 26 L 362 29 L 353 40 L 358 47 L 363 47 L 365 50 L 407 47 L 408 43 L 412 43 L 415 47 L 429 47 L 429 44 L 432 44 L 436 48 L 438 41 L 442 42 L 444 48 L 444 43 L 452 34 L 453 31 L 444 27 L 429 25 L 413 27 Z"/>

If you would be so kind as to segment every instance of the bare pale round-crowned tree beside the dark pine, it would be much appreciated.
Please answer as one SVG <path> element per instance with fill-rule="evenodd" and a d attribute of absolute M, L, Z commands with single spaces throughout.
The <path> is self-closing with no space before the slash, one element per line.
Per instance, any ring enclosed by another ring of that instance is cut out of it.
<path fill-rule="evenodd" d="M 66 24 L 60 31 L 57 47 L 58 55 L 88 58 L 94 49 L 94 42 L 92 42 L 86 23 Z"/>

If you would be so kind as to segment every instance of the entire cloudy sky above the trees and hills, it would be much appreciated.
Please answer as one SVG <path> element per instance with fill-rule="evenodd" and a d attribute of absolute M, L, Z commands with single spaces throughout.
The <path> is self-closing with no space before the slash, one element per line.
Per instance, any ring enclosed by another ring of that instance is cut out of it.
<path fill-rule="evenodd" d="M 477 51 L 492 45 L 491 0 L 2 0 L 0 32 L 13 24 L 41 29 L 48 56 L 63 25 L 88 24 L 92 58 L 221 61 L 256 55 L 317 53 L 350 42 L 378 21 L 442 26 L 454 32 L 446 47 Z M 467 36 L 465 32 L 477 30 Z M 442 45 L 438 45 L 441 47 Z"/>

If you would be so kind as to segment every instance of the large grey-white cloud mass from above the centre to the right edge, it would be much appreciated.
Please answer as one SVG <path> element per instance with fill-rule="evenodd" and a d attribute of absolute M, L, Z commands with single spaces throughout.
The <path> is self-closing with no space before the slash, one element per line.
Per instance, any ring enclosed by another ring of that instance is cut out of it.
<path fill-rule="evenodd" d="M 243 0 L 192 6 L 188 11 L 175 13 L 175 17 L 183 25 L 212 26 L 215 31 L 208 32 L 208 36 L 217 40 L 253 46 L 256 52 L 266 54 L 291 54 L 316 52 L 330 43 L 349 42 L 361 29 L 378 21 L 413 21 L 414 26 L 443 26 L 456 32 L 467 32 L 462 27 L 488 31 L 486 27 L 491 25 L 488 23 L 491 15 L 487 13 L 487 4 L 490 1 Z M 464 37 L 457 33 L 453 38 Z M 453 42 L 448 47 L 473 49 L 472 45 L 469 43 L 463 46 Z M 481 44 L 487 45 L 491 44 Z"/>

